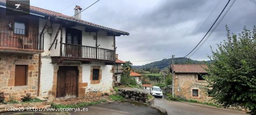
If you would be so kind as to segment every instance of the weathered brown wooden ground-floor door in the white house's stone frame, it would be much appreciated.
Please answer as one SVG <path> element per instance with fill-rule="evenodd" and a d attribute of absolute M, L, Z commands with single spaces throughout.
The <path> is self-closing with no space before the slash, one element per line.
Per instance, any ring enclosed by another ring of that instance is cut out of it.
<path fill-rule="evenodd" d="M 56 97 L 77 96 L 77 67 L 60 66 L 57 75 Z"/>

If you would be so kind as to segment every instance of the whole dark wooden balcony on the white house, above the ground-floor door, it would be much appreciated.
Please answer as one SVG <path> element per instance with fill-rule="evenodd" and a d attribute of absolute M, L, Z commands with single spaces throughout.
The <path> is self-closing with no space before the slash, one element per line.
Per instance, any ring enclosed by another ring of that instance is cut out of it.
<path fill-rule="evenodd" d="M 60 57 L 52 57 L 52 62 L 60 63 L 63 60 L 76 60 L 84 63 L 99 61 L 114 64 L 115 51 L 92 46 L 61 43 Z"/>

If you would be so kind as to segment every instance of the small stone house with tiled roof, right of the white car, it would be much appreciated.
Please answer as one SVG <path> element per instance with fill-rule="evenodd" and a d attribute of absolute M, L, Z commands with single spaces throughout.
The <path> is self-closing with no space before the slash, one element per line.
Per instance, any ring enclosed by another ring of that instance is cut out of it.
<path fill-rule="evenodd" d="M 207 101 L 208 84 L 202 76 L 207 75 L 208 69 L 205 64 L 174 64 L 174 94 L 175 96 L 195 99 L 202 102 Z"/>

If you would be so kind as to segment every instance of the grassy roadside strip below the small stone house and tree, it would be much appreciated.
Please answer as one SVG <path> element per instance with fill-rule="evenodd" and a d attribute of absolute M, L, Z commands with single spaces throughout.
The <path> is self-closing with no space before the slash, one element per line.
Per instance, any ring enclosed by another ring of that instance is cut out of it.
<path fill-rule="evenodd" d="M 222 108 L 222 106 L 212 103 L 212 102 L 199 102 L 197 100 L 187 100 L 184 98 L 179 98 L 179 97 L 173 97 L 171 94 L 166 94 L 167 99 L 168 100 L 172 100 L 172 101 L 180 101 L 180 102 L 195 102 L 195 103 L 200 103 L 200 104 L 204 104 L 204 105 L 209 105 L 209 106 L 213 106 L 213 107 L 217 107 L 217 108 Z"/>

